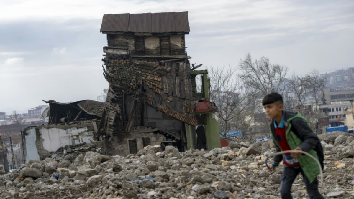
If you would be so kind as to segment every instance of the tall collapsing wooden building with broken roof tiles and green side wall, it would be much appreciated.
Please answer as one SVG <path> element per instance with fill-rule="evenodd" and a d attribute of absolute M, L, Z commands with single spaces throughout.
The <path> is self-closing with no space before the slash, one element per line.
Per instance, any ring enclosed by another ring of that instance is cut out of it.
<path fill-rule="evenodd" d="M 109 89 L 99 138 L 106 154 L 156 144 L 180 151 L 220 147 L 207 71 L 195 70 L 185 51 L 188 12 L 104 14 L 101 32 Z"/>

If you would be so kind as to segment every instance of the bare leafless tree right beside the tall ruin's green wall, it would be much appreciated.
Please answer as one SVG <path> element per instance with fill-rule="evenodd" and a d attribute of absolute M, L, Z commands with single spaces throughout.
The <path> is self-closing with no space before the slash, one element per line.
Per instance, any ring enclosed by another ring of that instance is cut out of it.
<path fill-rule="evenodd" d="M 236 78 L 236 68 L 211 68 L 210 99 L 215 102 L 218 111 L 220 131 L 225 136 L 230 129 L 245 128 L 247 120 L 246 111 L 250 107 L 253 93 L 244 89 L 241 82 Z M 244 125 L 241 125 L 241 124 Z M 246 130 L 246 129 L 244 129 Z"/>

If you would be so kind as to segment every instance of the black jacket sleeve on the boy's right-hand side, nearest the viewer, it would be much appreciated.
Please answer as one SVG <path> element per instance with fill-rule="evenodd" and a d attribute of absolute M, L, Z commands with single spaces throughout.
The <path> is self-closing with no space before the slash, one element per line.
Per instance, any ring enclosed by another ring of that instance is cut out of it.
<path fill-rule="evenodd" d="M 291 121 L 297 135 L 302 140 L 299 146 L 303 151 L 309 152 L 319 142 L 317 135 L 310 129 L 309 125 L 301 118 L 295 118 Z"/>

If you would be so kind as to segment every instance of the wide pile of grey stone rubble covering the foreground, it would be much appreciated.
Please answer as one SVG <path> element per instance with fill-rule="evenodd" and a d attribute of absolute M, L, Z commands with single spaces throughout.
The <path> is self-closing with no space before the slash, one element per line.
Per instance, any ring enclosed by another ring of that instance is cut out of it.
<path fill-rule="evenodd" d="M 342 132 L 319 135 L 325 151 L 320 192 L 354 198 L 354 137 Z M 248 147 L 245 147 L 245 146 Z M 279 198 L 282 166 L 266 170 L 273 142 L 243 141 L 211 151 L 178 152 L 173 146 L 147 146 L 126 157 L 98 152 L 61 160 L 30 160 L 0 175 L 1 198 Z M 74 154 L 74 153 L 71 153 Z M 306 197 L 303 179 L 293 197 Z"/>

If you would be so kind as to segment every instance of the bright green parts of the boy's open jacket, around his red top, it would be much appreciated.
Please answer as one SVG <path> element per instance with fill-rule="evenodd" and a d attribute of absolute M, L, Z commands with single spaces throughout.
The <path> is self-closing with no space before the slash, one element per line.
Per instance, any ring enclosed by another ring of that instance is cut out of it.
<path fill-rule="evenodd" d="M 292 126 L 291 121 L 294 118 L 301 118 L 308 124 L 306 118 L 304 118 L 301 115 L 301 113 L 297 113 L 295 116 L 286 120 L 287 127 L 285 124 L 285 127 L 286 127 L 285 137 L 286 137 L 287 143 L 289 144 L 289 146 L 292 150 L 299 147 L 300 144 L 302 143 L 302 140 L 298 136 L 296 136 L 296 134 L 291 130 L 291 126 Z M 271 123 L 270 125 L 273 125 L 273 123 Z M 269 129 L 270 129 L 270 127 L 269 127 Z M 280 148 L 278 141 L 276 141 L 276 139 L 274 137 L 274 132 L 272 132 L 271 129 L 270 129 L 270 132 L 272 134 L 275 144 Z M 314 149 L 311 149 L 308 153 L 311 154 L 313 157 L 315 157 L 318 160 L 317 152 Z M 320 168 L 318 167 L 318 164 L 316 163 L 316 161 L 314 159 L 312 159 L 311 157 L 309 157 L 307 155 L 300 155 L 297 158 L 297 160 L 301 166 L 301 169 L 303 170 L 306 177 L 308 178 L 309 182 L 312 183 L 315 180 L 315 178 L 317 177 L 317 175 L 320 173 Z"/>

